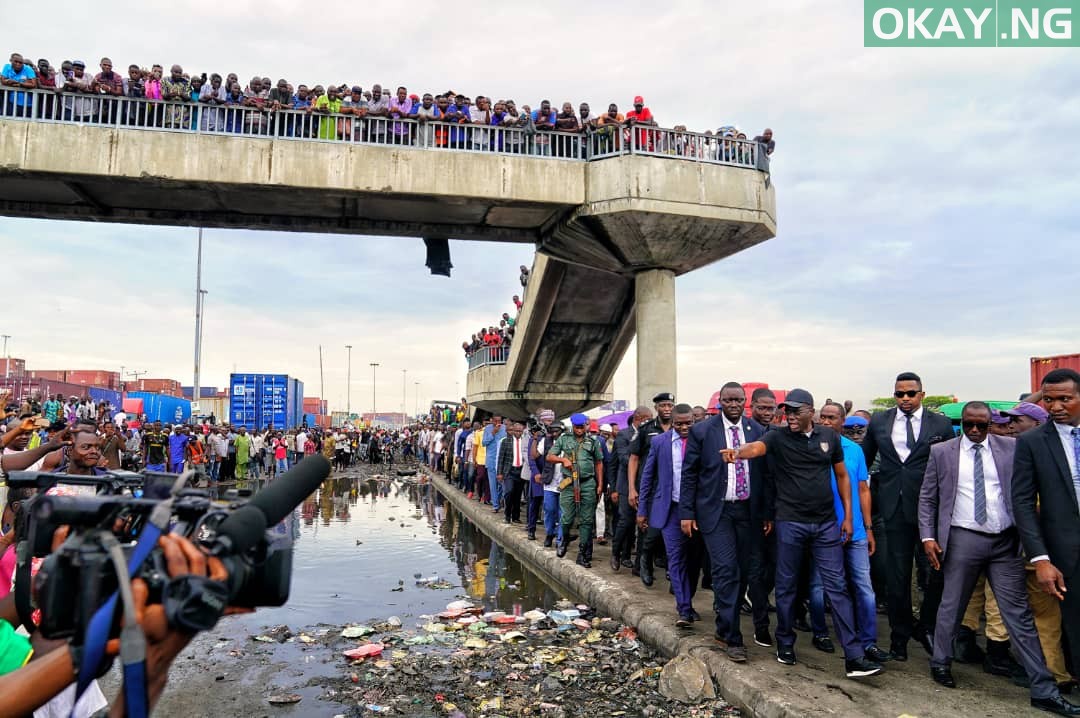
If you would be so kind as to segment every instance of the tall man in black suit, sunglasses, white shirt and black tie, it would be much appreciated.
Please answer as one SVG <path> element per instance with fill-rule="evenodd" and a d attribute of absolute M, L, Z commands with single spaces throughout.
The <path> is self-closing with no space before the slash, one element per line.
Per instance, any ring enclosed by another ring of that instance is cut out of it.
<path fill-rule="evenodd" d="M 930 458 L 930 446 L 954 436 L 953 422 L 922 406 L 926 393 L 919 375 L 905 371 L 893 388 L 896 408 L 870 418 L 863 439 L 866 465 L 880 457 L 877 484 L 879 512 L 885 519 L 887 581 L 889 586 L 890 652 L 897 661 L 907 660 L 907 641 L 917 639 L 933 653 L 933 631 L 941 602 L 941 571 L 927 569 L 927 586 L 919 610 L 919 623 L 912 615 L 912 561 L 922 556 L 919 541 L 919 490 Z M 918 552 L 918 553 L 916 553 Z"/>

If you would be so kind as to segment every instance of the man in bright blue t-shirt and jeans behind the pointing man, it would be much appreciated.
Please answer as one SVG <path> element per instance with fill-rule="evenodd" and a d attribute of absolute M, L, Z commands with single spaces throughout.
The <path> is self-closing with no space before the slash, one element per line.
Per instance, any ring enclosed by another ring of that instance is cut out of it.
<path fill-rule="evenodd" d="M 823 426 L 840 434 L 847 411 L 839 404 L 826 404 L 819 412 Z M 874 530 L 870 526 L 870 477 L 866 471 L 866 457 L 861 446 L 850 438 L 840 437 L 843 449 L 843 464 L 851 480 L 851 540 L 843 544 L 843 564 L 848 583 L 853 591 L 852 607 L 855 614 L 855 633 L 866 656 L 878 663 L 889 660 L 889 654 L 877 647 L 877 600 L 870 583 L 870 555 L 875 551 Z M 833 474 L 833 504 L 836 520 L 843 520 L 843 503 L 836 489 L 836 474 Z M 866 517 L 865 519 L 863 517 Z M 813 645 L 819 650 L 832 653 L 835 648 L 825 625 L 825 591 L 816 568 L 810 575 L 810 625 L 813 627 Z"/>

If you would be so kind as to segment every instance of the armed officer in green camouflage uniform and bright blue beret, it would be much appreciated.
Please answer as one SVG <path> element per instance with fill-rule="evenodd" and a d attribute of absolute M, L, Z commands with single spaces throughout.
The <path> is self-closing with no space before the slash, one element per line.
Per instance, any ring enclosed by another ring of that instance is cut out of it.
<path fill-rule="evenodd" d="M 596 499 L 604 490 L 604 455 L 596 439 L 589 435 L 589 417 L 575 414 L 570 417 L 570 423 L 573 424 L 573 433 L 559 436 L 548 450 L 548 462 L 562 464 L 564 474 L 577 474 L 578 484 L 577 487 L 564 487 L 558 498 L 562 519 L 556 553 L 559 558 L 566 555 L 570 528 L 573 519 L 578 518 L 581 536 L 578 566 L 592 568 Z M 566 480 L 565 475 L 563 480 Z"/>

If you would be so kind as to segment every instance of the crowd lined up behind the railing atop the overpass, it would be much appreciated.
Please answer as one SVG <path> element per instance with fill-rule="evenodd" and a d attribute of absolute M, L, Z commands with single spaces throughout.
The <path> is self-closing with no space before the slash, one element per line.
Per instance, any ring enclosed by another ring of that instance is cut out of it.
<path fill-rule="evenodd" d="M 132 64 L 123 73 L 108 57 L 98 67 L 87 70 L 81 59 L 33 65 L 13 53 L 0 73 L 0 117 L 573 158 L 619 151 L 634 133 L 648 151 L 751 166 L 764 165 L 775 148 L 768 128 L 752 143 L 733 141 L 747 139 L 734 125 L 708 130 L 705 141 L 693 140 L 685 125 L 661 132 L 640 95 L 625 113 L 617 103 L 594 113 L 589 103 L 577 111 L 569 101 L 556 107 L 548 99 L 518 108 L 509 98 L 454 90 L 416 94 L 405 86 L 392 92 L 379 83 L 294 85 L 255 76 L 243 84 L 235 72 L 189 73 L 179 65 L 166 72 L 163 65 Z"/>

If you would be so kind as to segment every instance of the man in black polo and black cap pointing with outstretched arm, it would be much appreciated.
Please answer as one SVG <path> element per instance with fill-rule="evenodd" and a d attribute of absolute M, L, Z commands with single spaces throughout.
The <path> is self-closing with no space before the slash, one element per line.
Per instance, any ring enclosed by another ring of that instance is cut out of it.
<path fill-rule="evenodd" d="M 775 487 L 777 661 L 795 664 L 795 592 L 802 554 L 809 548 L 833 604 L 833 624 L 843 647 L 845 674 L 864 678 L 881 673 L 880 663 L 865 655 L 855 633 L 851 598 L 843 573 L 843 543 L 851 539 L 851 480 L 843 463 L 840 436 L 813 423 L 813 396 L 793 389 L 781 405 L 787 429 L 770 431 L 739 449 L 721 449 L 728 463 L 769 455 Z M 833 473 L 843 506 L 837 525 Z M 771 498 L 771 497 L 769 497 Z"/>

